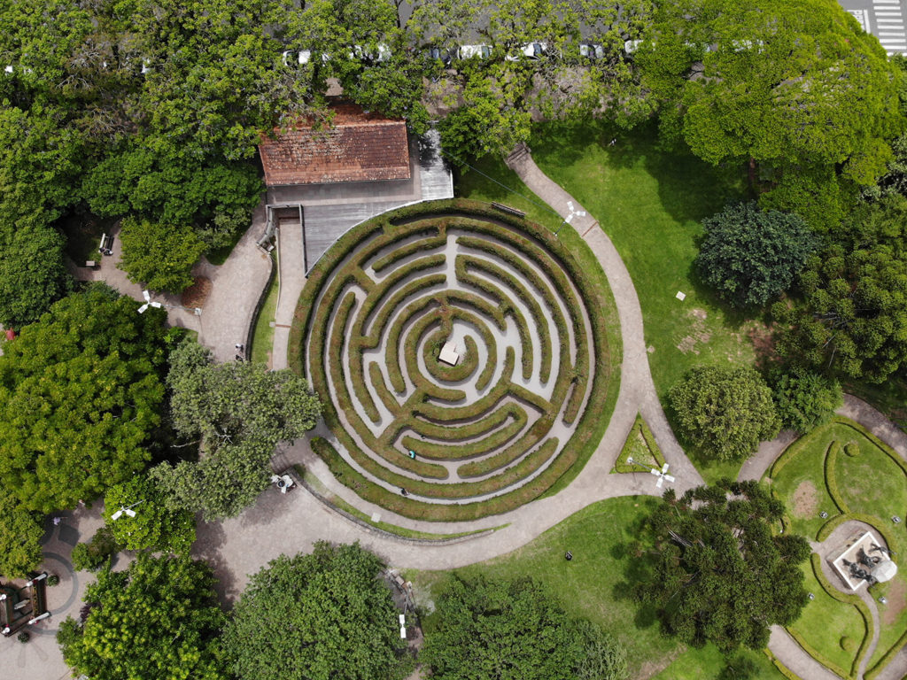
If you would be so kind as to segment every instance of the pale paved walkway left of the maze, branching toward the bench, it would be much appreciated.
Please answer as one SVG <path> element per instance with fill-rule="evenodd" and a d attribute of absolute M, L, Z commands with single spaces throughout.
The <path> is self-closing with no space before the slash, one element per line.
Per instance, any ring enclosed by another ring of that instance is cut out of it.
<path fill-rule="evenodd" d="M 210 348 L 217 361 L 232 361 L 237 354 L 236 345 L 246 342 L 252 314 L 268 282 L 271 260 L 255 245 L 264 230 L 265 209 L 262 203 L 252 215 L 252 225 L 223 265 L 216 267 L 202 257 L 192 267 L 193 276 L 208 277 L 211 281 L 210 295 L 201 307 L 201 316 L 183 307 L 180 296 L 158 293 L 151 296 L 152 300 L 166 305 L 169 325 L 196 331 L 199 342 Z M 126 272 L 117 267 L 122 258 L 120 227 L 117 226 L 111 233 L 114 237 L 113 254 L 104 257 L 99 253 L 97 261 L 100 266 L 97 269 L 77 267 L 73 262 L 68 262 L 67 268 L 73 277 L 81 281 L 103 281 L 122 295 L 143 303 L 141 286 L 132 283 Z"/>

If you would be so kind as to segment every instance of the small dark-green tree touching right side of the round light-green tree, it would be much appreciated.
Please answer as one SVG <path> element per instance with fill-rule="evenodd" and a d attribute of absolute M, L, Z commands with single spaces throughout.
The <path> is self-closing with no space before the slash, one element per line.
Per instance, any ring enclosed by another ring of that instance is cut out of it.
<path fill-rule="evenodd" d="M 801 434 L 831 421 L 834 410 L 844 403 L 838 381 L 799 366 L 778 371 L 772 393 L 782 425 Z"/>

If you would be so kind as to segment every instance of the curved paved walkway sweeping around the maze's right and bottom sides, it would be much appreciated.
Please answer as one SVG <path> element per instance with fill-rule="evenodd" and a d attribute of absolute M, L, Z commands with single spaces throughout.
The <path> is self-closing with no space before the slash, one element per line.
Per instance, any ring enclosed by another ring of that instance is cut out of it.
<path fill-rule="evenodd" d="M 528 153 L 514 160 L 512 167 L 532 191 L 562 216 L 581 210 L 569 194 L 539 170 Z M 518 549 L 545 529 L 597 500 L 638 494 L 659 495 L 662 490 L 655 486 L 655 480 L 649 474 L 610 474 L 637 413 L 641 413 L 649 423 L 658 446 L 670 464 L 670 472 L 676 477 L 673 486 L 678 492 L 703 483 L 702 477 L 680 448 L 658 401 L 649 371 L 639 297 L 627 267 L 594 219 L 583 216 L 572 224 L 598 257 L 608 277 L 618 308 L 623 364 L 617 405 L 608 429 L 590 461 L 571 485 L 549 498 L 534 500 L 512 512 L 481 520 L 456 523 L 411 520 L 362 500 L 354 491 L 336 481 L 327 466 L 312 454 L 307 439 L 291 442 L 278 453 L 276 467 L 303 464 L 309 473 L 317 476 L 327 491 L 366 515 L 379 515 L 380 520 L 396 526 L 431 533 L 503 528 L 454 545 L 426 545 L 370 531 L 328 509 L 305 491 L 281 496 L 271 490 L 239 518 L 200 527 L 196 553 L 215 565 L 223 581 L 225 597 L 235 597 L 247 575 L 264 566 L 268 559 L 277 557 L 281 552 L 307 550 L 317 539 L 360 540 L 395 567 L 455 568 Z M 333 439 L 323 426 L 313 434 Z"/>

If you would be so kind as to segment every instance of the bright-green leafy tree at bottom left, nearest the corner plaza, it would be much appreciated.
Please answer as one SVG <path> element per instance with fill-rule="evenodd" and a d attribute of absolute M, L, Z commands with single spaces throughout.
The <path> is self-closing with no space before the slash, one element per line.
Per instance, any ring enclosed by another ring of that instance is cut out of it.
<path fill-rule="evenodd" d="M 88 586 L 87 617 L 57 634 L 63 659 L 94 680 L 222 680 L 218 636 L 225 616 L 204 562 L 139 557 Z"/>

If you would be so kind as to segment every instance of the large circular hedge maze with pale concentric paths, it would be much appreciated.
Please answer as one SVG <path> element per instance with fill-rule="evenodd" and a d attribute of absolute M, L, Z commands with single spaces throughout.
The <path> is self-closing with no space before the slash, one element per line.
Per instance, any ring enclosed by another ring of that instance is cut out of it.
<path fill-rule="evenodd" d="M 395 216 L 347 233 L 303 292 L 299 358 L 339 452 L 313 447 L 409 516 L 510 510 L 580 458 L 590 413 L 605 417 L 604 310 L 561 245 L 522 220 L 462 205 Z M 454 364 L 439 358 L 448 342 Z"/>

